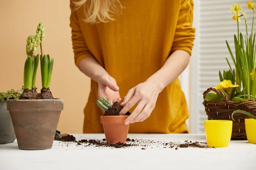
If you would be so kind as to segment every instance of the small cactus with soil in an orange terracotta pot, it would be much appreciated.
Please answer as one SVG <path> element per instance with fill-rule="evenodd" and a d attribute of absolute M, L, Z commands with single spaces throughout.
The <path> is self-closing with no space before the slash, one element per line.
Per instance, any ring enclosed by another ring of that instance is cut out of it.
<path fill-rule="evenodd" d="M 125 125 L 125 119 L 129 116 L 127 112 L 124 116 L 119 116 L 122 106 L 119 102 L 113 105 L 104 97 L 97 99 L 97 105 L 105 113 L 100 116 L 103 125 L 106 141 L 108 143 L 125 143 L 128 135 L 129 125 Z"/>

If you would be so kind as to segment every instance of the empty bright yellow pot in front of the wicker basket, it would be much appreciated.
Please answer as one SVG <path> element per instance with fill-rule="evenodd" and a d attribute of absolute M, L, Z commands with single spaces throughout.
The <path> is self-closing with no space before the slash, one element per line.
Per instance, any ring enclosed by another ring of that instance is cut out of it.
<path fill-rule="evenodd" d="M 228 147 L 232 134 L 231 120 L 204 121 L 205 136 L 209 147 Z"/>

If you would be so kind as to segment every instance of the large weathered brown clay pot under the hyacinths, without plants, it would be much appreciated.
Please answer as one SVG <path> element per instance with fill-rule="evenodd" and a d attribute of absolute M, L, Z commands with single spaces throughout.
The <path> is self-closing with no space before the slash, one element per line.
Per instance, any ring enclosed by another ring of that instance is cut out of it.
<path fill-rule="evenodd" d="M 52 148 L 63 100 L 8 100 L 18 146 L 23 150 Z"/>

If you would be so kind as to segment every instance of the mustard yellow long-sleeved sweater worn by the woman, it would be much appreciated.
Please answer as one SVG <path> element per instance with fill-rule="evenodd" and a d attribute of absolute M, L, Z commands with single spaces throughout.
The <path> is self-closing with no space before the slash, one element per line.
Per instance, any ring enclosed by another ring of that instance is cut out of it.
<path fill-rule="evenodd" d="M 122 13 L 115 14 L 115 20 L 108 23 L 85 23 L 84 7 L 76 11 L 72 8 L 70 27 L 76 65 L 86 57 L 96 59 L 116 79 L 123 97 L 158 71 L 173 51 L 191 54 L 195 28 L 192 0 L 121 0 L 121 3 L 125 7 Z M 92 80 L 84 108 L 84 133 L 104 132 L 99 119 L 102 111 L 96 105 L 97 94 L 97 82 Z M 187 133 L 188 117 L 186 99 L 176 79 L 160 93 L 151 116 L 144 122 L 131 124 L 129 133 Z"/>

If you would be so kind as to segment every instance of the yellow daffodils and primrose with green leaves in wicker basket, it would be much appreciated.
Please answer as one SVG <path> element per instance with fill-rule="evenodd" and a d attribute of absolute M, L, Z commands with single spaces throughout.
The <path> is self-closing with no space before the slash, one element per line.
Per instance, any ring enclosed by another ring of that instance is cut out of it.
<path fill-rule="evenodd" d="M 226 41 L 228 51 L 232 58 L 235 68 L 232 68 L 230 61 L 226 58 L 227 64 L 229 65 L 228 71 L 219 71 L 220 83 L 215 87 L 219 91 L 222 91 L 229 100 L 234 102 L 244 102 L 247 100 L 255 100 L 256 96 L 256 34 L 253 32 L 253 23 L 255 17 L 255 10 L 252 1 L 247 2 L 249 10 L 253 11 L 253 21 L 251 31 L 248 32 L 247 17 L 244 11 L 240 14 L 242 8 L 240 4 L 233 4 L 230 8 L 233 16 L 233 20 L 237 22 L 237 35 L 234 35 L 235 54 L 231 51 L 229 43 Z M 246 26 L 246 35 L 243 36 L 239 32 L 239 22 L 241 17 L 244 18 Z M 243 89 L 241 89 L 243 87 Z M 219 94 L 207 94 L 206 101 L 220 101 L 223 97 Z"/>

